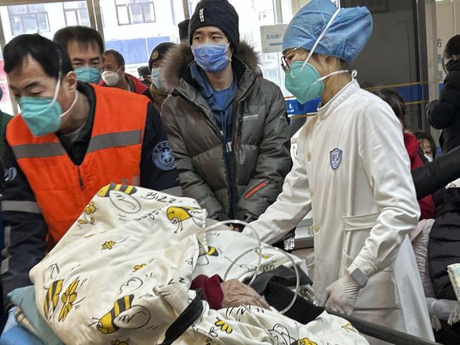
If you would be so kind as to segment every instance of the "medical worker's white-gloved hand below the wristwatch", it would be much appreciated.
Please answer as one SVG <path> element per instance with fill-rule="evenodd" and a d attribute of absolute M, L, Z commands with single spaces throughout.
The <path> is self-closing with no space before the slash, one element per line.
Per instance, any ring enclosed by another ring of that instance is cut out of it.
<path fill-rule="evenodd" d="M 328 293 L 326 310 L 350 315 L 355 309 L 359 292 L 360 286 L 358 286 L 351 274 L 345 271 L 345 274 L 341 278 L 326 288 L 326 293 Z"/>

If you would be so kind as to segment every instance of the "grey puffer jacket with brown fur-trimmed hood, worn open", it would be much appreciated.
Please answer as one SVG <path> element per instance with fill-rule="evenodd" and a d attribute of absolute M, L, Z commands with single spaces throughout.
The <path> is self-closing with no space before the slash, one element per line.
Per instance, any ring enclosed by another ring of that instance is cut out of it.
<path fill-rule="evenodd" d="M 238 195 L 236 218 L 258 218 L 280 194 L 292 165 L 280 88 L 254 72 L 258 55 L 241 42 L 232 58 L 238 88 L 233 103 L 234 171 L 229 174 L 222 134 L 190 76 L 190 46 L 170 49 L 165 60 L 163 73 L 171 95 L 163 103 L 161 118 L 184 196 L 197 199 L 209 217 L 224 220 L 231 208 L 229 176 L 233 176 Z"/>

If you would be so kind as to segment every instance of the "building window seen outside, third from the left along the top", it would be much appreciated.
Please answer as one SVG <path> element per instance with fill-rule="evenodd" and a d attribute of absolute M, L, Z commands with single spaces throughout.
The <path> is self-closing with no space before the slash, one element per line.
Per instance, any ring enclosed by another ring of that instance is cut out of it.
<path fill-rule="evenodd" d="M 156 21 L 152 0 L 115 0 L 118 25 L 153 23 Z"/>

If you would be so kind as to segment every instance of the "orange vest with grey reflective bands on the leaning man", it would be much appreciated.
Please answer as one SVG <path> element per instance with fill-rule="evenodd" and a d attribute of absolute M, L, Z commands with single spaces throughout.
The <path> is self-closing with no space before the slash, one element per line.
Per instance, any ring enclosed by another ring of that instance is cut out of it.
<path fill-rule="evenodd" d="M 20 115 L 6 129 L 6 141 L 40 206 L 51 245 L 62 238 L 101 187 L 110 182 L 139 185 L 149 99 L 91 86 L 96 110 L 81 165 L 74 165 L 56 134 L 33 136 Z"/>

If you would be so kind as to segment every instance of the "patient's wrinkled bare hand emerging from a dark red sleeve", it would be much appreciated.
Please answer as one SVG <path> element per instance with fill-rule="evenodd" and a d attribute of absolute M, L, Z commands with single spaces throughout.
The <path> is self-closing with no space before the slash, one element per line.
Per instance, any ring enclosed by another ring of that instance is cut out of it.
<path fill-rule="evenodd" d="M 224 300 L 222 308 L 238 307 L 239 305 L 256 305 L 269 309 L 270 305 L 253 288 L 237 279 L 231 279 L 221 283 Z"/>

